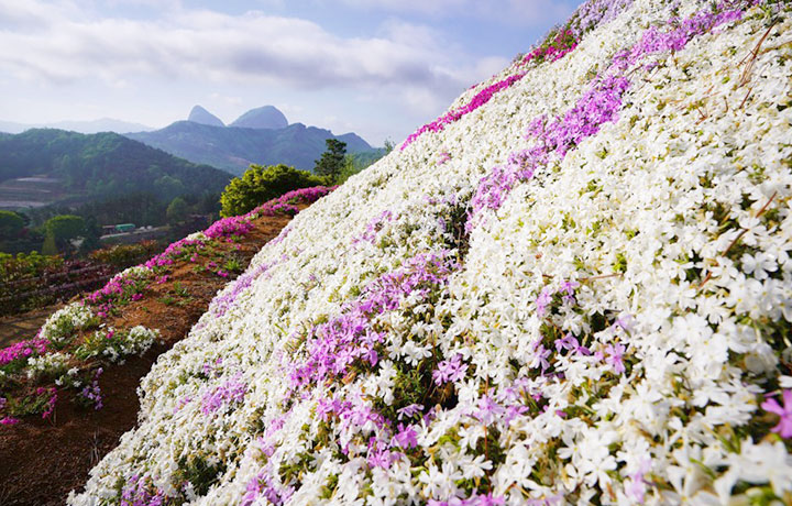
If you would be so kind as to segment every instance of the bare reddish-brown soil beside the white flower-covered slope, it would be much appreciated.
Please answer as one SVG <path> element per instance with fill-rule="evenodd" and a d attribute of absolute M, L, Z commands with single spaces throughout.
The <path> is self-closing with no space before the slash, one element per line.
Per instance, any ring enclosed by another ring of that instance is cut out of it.
<path fill-rule="evenodd" d="M 238 255 L 243 267 L 289 220 L 277 216 L 253 222 L 255 229 L 237 243 L 241 246 Z M 230 251 L 237 244 L 218 249 Z M 177 283 L 187 297 L 173 297 Z M 226 283 L 228 279 L 215 274 L 196 272 L 195 264 L 174 264 L 167 283 L 150 285 L 144 298 L 124 306 L 112 322 L 117 328 L 142 324 L 160 329 L 164 343 L 155 344 L 143 356 L 128 359 L 123 365 L 105 367 L 99 378 L 102 409 L 80 407 L 72 403 L 74 392 L 58 392 L 52 419 L 30 416 L 14 426 L 0 426 L 0 506 L 62 505 L 69 491 L 80 490 L 90 469 L 118 444 L 121 435 L 135 426 L 141 377 L 161 353 L 187 334 Z"/>

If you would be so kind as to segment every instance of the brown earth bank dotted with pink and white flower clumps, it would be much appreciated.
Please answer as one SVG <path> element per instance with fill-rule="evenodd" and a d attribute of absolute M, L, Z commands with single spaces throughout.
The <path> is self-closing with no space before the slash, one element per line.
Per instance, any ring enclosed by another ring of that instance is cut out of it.
<path fill-rule="evenodd" d="M 220 220 L 79 295 L 23 337 L 30 339 L 3 343 L 11 344 L 0 348 L 3 506 L 63 505 L 134 427 L 135 387 L 156 356 L 185 337 L 262 244 L 330 190 L 292 191 Z M 90 277 L 86 271 L 70 274 Z"/>

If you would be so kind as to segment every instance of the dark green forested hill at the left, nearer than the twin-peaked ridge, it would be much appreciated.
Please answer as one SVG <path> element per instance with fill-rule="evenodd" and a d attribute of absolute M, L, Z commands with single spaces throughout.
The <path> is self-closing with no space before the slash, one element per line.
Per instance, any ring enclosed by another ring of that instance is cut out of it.
<path fill-rule="evenodd" d="M 0 135 L 0 182 L 33 175 L 57 177 L 64 189 L 88 196 L 150 193 L 163 199 L 220 191 L 231 178 L 111 132 L 34 129 Z"/>

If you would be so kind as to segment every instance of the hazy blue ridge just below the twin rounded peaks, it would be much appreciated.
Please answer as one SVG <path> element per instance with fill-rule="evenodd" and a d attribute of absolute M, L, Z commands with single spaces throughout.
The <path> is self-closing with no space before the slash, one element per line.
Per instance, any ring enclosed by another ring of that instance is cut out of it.
<path fill-rule="evenodd" d="M 244 120 L 243 114 L 238 121 Z M 250 119 L 255 122 L 255 118 Z M 248 122 L 244 120 L 243 122 Z M 258 124 L 258 123 L 255 123 Z M 213 127 L 194 121 L 177 121 L 154 132 L 127 134 L 128 138 L 172 153 L 195 163 L 209 164 L 240 175 L 250 164 L 292 165 L 302 170 L 314 168 L 327 148 L 324 140 L 346 143 L 348 153 L 374 148 L 354 133 L 333 135 L 329 130 L 293 123 L 282 129 Z"/>

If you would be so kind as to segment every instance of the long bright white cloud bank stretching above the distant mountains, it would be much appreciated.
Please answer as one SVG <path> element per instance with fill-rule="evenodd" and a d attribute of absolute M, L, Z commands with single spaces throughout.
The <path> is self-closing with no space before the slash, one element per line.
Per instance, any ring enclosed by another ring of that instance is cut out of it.
<path fill-rule="evenodd" d="M 0 10 L 13 6 L 0 0 Z M 475 73 L 449 72 L 452 57 L 430 29 L 393 22 L 383 36 L 344 38 L 296 18 L 251 11 L 229 15 L 178 10 L 169 20 L 96 19 L 25 2 L 0 32 L 0 69 L 26 79 L 117 81 L 152 75 L 216 82 L 266 82 L 299 88 L 469 85 Z M 58 18 L 59 15 L 59 18 Z M 13 20 L 38 20 L 41 31 Z M 43 33 L 42 33 L 43 31 Z M 450 82 L 449 82 L 450 81 Z"/>

